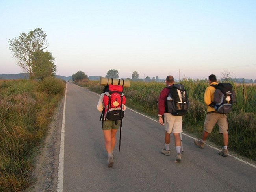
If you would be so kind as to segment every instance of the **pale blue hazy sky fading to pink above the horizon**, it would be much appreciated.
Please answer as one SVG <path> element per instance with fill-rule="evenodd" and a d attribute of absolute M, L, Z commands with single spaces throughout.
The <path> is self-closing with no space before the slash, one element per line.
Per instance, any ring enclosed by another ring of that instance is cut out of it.
<path fill-rule="evenodd" d="M 23 72 L 8 39 L 35 28 L 62 76 L 256 79 L 256 0 L 0 0 L 0 74 Z"/>

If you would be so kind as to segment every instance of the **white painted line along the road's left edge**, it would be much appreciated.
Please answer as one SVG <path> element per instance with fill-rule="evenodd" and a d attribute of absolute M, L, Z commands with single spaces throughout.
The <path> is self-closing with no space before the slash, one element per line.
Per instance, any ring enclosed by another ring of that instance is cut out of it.
<path fill-rule="evenodd" d="M 62 126 L 61 126 L 61 139 L 60 139 L 60 148 L 59 148 L 59 170 L 58 170 L 57 192 L 63 192 L 64 137 L 65 137 L 66 98 L 67 98 L 67 83 L 66 83 L 64 107 L 63 107 Z"/>

